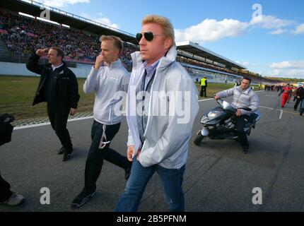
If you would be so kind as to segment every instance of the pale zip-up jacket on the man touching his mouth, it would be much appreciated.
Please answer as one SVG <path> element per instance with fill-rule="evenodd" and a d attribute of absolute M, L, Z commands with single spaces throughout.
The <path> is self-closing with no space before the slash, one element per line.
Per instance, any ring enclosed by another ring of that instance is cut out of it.
<path fill-rule="evenodd" d="M 122 121 L 122 97 L 127 95 L 130 74 L 120 59 L 102 66 L 92 67 L 83 85 L 84 93 L 95 92 L 93 115 L 101 124 L 113 125 Z"/>

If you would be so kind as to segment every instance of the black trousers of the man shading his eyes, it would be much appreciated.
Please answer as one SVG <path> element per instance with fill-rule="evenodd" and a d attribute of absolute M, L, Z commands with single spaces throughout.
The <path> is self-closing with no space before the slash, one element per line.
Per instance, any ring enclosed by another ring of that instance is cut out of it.
<path fill-rule="evenodd" d="M 68 150 L 72 150 L 71 137 L 69 131 L 66 129 L 70 109 L 56 109 L 54 107 L 47 107 L 47 114 L 52 128 L 57 134 L 62 145 Z"/>

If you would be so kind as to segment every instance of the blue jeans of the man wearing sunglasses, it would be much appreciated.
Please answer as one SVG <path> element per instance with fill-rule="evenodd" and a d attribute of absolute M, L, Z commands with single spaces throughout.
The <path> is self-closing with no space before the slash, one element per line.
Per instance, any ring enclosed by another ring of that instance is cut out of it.
<path fill-rule="evenodd" d="M 131 176 L 127 182 L 124 194 L 120 196 L 115 212 L 135 212 L 139 208 L 141 197 L 144 194 L 149 179 L 155 172 L 158 173 L 163 182 L 165 201 L 170 205 L 171 212 L 185 211 L 185 198 L 182 191 L 182 179 L 185 165 L 180 169 L 165 169 L 159 165 L 143 167 L 141 163 L 133 159 Z"/>

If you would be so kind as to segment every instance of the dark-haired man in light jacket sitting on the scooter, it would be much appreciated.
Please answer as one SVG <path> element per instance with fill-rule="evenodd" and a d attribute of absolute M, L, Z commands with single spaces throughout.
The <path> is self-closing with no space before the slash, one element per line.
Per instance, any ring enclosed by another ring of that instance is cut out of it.
<path fill-rule="evenodd" d="M 235 121 L 235 126 L 239 133 L 238 139 L 244 154 L 249 153 L 249 143 L 244 131 L 244 126 L 250 120 L 250 114 L 255 114 L 259 107 L 259 97 L 255 91 L 250 88 L 250 83 L 250 78 L 242 78 L 242 82 L 239 86 L 216 93 L 214 97 L 218 100 L 233 95 L 233 102 L 231 105 L 238 109 L 237 112 L 235 112 L 235 116 L 233 116 L 233 120 Z M 240 109 L 244 107 L 249 107 L 251 111 Z"/>

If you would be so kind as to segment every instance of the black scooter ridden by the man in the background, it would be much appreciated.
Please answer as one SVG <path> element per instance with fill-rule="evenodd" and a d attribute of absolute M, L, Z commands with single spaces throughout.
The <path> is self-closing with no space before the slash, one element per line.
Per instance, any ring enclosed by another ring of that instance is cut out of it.
<path fill-rule="evenodd" d="M 197 132 L 197 137 L 194 139 L 195 145 L 199 145 L 206 137 L 212 140 L 238 139 L 238 131 L 235 128 L 235 121 L 232 117 L 235 115 L 235 112 L 237 112 L 237 109 L 225 100 L 218 99 L 217 102 L 221 107 L 214 107 L 214 109 L 206 112 L 206 114 L 201 117 L 203 128 Z M 240 109 L 245 109 L 246 111 L 252 110 L 249 107 L 242 107 Z M 250 114 L 250 119 L 244 126 L 244 131 L 247 136 L 250 135 L 252 128 L 255 129 L 255 124 L 260 118 L 261 113 L 259 112 Z"/>

